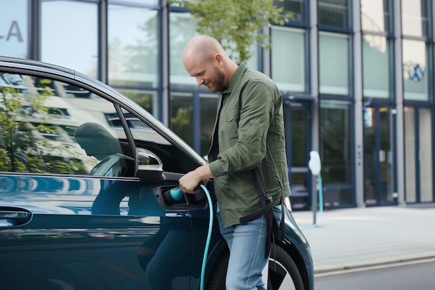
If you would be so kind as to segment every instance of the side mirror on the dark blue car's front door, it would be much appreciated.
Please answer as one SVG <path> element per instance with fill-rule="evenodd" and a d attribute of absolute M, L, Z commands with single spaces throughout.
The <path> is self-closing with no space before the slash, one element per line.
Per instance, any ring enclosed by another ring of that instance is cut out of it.
<path fill-rule="evenodd" d="M 163 182 L 165 175 L 163 174 L 163 163 L 153 152 L 144 148 L 136 149 L 136 176 L 142 182 L 156 183 Z"/>

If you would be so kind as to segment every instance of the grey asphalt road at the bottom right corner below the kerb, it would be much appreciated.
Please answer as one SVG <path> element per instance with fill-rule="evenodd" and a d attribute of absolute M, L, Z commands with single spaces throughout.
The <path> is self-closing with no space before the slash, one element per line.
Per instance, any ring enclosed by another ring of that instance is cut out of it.
<path fill-rule="evenodd" d="M 435 290 L 435 259 L 364 271 L 316 275 L 315 290 Z"/>

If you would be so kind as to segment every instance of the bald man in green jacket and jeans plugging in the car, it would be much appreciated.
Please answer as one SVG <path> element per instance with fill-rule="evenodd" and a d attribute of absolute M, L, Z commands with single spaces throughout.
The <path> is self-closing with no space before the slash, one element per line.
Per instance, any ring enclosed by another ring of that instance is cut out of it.
<path fill-rule="evenodd" d="M 233 63 L 210 36 L 197 35 L 188 42 L 183 65 L 198 86 L 222 95 L 208 163 L 181 177 L 181 190 L 195 193 L 199 182 L 214 179 L 220 232 L 230 250 L 227 289 L 264 290 L 266 218 L 240 219 L 262 208 L 255 168 L 270 200 L 290 195 L 281 94 L 268 76 Z"/>

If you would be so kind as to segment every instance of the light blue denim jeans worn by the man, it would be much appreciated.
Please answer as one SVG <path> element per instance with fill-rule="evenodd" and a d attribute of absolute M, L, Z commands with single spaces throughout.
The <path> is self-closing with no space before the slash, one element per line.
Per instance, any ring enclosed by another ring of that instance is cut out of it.
<path fill-rule="evenodd" d="M 220 233 L 228 243 L 229 262 L 227 289 L 265 290 L 261 271 L 268 264 L 265 257 L 265 243 L 268 225 L 265 216 L 245 225 L 224 227 L 220 213 L 217 213 Z"/>

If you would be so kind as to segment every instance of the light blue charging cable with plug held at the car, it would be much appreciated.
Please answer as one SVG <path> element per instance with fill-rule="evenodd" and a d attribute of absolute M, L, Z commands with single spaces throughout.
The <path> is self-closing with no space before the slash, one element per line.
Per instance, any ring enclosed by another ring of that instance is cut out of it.
<path fill-rule="evenodd" d="M 211 201 L 210 193 L 208 192 L 206 186 L 204 184 L 200 184 L 201 188 L 204 190 L 204 193 L 206 193 L 206 197 L 208 200 L 208 209 L 210 212 L 210 220 L 208 221 L 208 234 L 207 234 L 207 240 L 206 240 L 206 247 L 204 248 L 204 256 L 202 258 L 202 268 L 201 268 L 201 286 L 200 289 L 204 290 L 204 277 L 206 274 L 206 262 L 207 262 L 207 255 L 208 255 L 208 248 L 210 246 L 211 241 L 211 232 L 213 230 L 213 202 Z M 169 195 L 163 194 L 163 200 L 167 203 L 172 203 L 177 200 L 181 200 L 183 197 L 183 192 L 181 192 L 181 188 L 172 188 L 169 191 Z"/>

